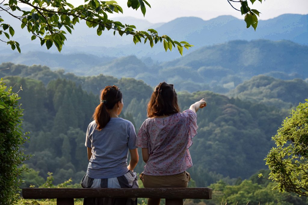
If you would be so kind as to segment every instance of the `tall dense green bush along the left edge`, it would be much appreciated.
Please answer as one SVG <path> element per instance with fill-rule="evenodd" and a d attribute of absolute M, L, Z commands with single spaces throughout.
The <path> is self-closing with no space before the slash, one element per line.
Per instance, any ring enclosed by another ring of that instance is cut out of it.
<path fill-rule="evenodd" d="M 25 156 L 22 145 L 27 133 L 22 133 L 22 109 L 18 94 L 6 88 L 0 79 L 0 204 L 14 204 L 19 197 L 22 171 L 20 166 Z"/>

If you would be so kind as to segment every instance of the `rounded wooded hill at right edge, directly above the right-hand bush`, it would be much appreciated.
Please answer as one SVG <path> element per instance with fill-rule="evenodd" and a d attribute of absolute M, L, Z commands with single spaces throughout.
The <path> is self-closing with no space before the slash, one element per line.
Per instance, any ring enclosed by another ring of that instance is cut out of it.
<path fill-rule="evenodd" d="M 280 80 L 258 75 L 241 83 L 228 95 L 254 103 L 291 108 L 308 98 L 308 83 L 302 79 Z"/>

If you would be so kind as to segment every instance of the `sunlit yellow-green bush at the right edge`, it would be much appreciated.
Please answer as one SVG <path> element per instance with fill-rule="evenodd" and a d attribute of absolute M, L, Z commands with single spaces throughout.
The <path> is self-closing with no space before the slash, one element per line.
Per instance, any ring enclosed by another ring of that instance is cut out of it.
<path fill-rule="evenodd" d="M 274 189 L 308 196 L 308 99 L 290 114 L 272 137 L 277 147 L 265 158 L 269 179 L 278 182 Z"/>

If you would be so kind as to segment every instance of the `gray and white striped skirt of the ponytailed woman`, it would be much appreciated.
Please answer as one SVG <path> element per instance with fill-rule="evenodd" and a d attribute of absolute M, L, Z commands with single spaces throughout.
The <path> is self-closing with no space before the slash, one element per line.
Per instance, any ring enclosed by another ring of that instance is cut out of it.
<path fill-rule="evenodd" d="M 84 175 L 81 186 L 83 188 L 139 188 L 136 172 L 114 178 L 93 179 Z M 83 205 L 137 205 L 137 198 L 85 198 Z"/>

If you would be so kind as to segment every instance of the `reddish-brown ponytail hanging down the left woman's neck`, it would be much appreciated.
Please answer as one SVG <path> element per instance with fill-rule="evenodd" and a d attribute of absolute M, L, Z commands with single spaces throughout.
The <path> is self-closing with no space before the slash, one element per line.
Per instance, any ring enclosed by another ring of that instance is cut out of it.
<path fill-rule="evenodd" d="M 105 103 L 100 103 L 94 111 L 93 119 L 95 120 L 97 127 L 97 130 L 101 130 L 106 126 L 106 124 L 110 120 L 110 114 L 107 112 L 107 108 Z"/>

